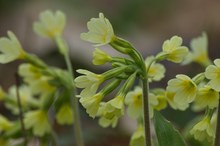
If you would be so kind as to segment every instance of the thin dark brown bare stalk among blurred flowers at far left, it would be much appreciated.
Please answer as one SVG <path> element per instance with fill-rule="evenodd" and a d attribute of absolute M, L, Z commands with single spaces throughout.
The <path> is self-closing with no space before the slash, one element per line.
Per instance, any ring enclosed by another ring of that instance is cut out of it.
<path fill-rule="evenodd" d="M 27 135 L 26 135 L 26 131 L 25 131 L 24 116 L 23 116 L 23 110 L 22 110 L 22 105 L 21 105 L 21 98 L 20 98 L 20 94 L 19 94 L 20 80 L 19 80 L 19 76 L 17 73 L 15 74 L 15 80 L 16 80 L 16 96 L 17 96 L 17 103 L 18 103 L 18 109 L 19 109 L 19 118 L 20 118 L 20 122 L 21 122 L 21 130 L 22 130 L 23 137 L 24 137 L 24 146 L 26 146 L 27 145 Z"/>

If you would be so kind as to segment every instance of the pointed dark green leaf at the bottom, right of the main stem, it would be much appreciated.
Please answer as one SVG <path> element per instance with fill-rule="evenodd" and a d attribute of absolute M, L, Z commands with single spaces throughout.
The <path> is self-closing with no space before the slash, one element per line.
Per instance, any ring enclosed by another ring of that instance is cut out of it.
<path fill-rule="evenodd" d="M 158 111 L 154 112 L 154 126 L 159 146 L 186 146 L 180 133 Z"/>

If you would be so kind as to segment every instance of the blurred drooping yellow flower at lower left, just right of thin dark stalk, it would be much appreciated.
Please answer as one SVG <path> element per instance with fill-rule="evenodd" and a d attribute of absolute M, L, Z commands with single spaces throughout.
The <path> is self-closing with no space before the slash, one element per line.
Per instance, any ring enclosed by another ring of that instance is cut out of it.
<path fill-rule="evenodd" d="M 27 129 L 32 129 L 36 136 L 50 133 L 50 123 L 44 110 L 29 111 L 25 114 L 24 123 Z"/>

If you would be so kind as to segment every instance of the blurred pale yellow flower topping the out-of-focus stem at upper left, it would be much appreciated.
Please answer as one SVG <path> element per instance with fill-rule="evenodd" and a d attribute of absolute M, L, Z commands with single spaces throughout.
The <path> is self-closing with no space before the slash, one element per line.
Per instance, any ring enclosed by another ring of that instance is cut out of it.
<path fill-rule="evenodd" d="M 66 24 L 66 17 L 63 12 L 55 13 L 47 10 L 40 13 L 39 21 L 34 23 L 34 31 L 46 38 L 61 36 Z"/>

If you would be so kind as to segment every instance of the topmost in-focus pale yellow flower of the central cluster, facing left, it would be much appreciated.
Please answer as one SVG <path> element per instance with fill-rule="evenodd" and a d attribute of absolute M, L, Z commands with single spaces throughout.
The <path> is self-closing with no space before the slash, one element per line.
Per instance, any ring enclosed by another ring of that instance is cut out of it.
<path fill-rule="evenodd" d="M 99 13 L 99 18 L 92 18 L 87 27 L 89 32 L 82 33 L 81 39 L 97 44 L 96 46 L 108 44 L 114 38 L 112 25 L 103 13 Z"/>

